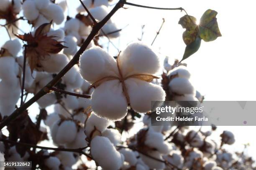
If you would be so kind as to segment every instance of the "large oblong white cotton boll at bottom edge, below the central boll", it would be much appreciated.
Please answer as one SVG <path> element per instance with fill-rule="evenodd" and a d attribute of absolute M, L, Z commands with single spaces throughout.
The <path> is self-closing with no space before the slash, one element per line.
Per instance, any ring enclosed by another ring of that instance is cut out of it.
<path fill-rule="evenodd" d="M 123 165 L 124 158 L 108 138 L 96 136 L 91 141 L 92 158 L 104 170 L 119 170 Z"/>

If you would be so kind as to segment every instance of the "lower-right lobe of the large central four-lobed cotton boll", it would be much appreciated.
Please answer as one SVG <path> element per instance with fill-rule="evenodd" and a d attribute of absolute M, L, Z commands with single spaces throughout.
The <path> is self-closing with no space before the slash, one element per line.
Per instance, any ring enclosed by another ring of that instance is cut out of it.
<path fill-rule="evenodd" d="M 130 97 L 131 107 L 136 112 L 148 112 L 151 110 L 151 101 L 165 100 L 165 92 L 159 85 L 138 80 L 136 78 L 125 80 L 125 85 Z"/>

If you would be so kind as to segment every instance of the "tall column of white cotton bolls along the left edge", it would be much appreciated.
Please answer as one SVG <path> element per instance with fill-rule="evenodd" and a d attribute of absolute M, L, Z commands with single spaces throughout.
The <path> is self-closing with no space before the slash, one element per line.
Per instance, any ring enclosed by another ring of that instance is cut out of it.
<path fill-rule="evenodd" d="M 20 98 L 21 70 L 18 63 L 20 42 L 9 40 L 1 47 L 0 54 L 0 113 L 9 116 Z"/>

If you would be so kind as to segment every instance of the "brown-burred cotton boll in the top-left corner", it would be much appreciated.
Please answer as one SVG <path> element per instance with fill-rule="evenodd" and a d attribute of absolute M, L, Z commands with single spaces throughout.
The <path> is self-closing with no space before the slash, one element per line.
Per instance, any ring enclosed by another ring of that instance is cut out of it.
<path fill-rule="evenodd" d="M 19 20 L 16 20 L 16 15 L 20 13 L 21 2 L 20 0 L 1 0 L 0 1 L 0 19 L 5 19 L 6 23 L 11 23 L 7 25 L 8 32 L 11 37 L 18 32 Z M 13 32 L 13 33 L 12 33 Z"/>

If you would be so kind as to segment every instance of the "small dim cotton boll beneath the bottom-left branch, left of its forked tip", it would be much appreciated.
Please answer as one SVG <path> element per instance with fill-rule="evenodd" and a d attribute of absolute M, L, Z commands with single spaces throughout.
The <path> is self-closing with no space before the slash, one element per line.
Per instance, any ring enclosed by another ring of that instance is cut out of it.
<path fill-rule="evenodd" d="M 74 158 L 74 153 L 72 152 L 59 152 L 59 154 L 56 155 L 57 158 L 61 161 L 61 164 L 67 167 L 72 167 L 77 160 Z"/>

